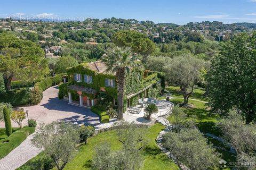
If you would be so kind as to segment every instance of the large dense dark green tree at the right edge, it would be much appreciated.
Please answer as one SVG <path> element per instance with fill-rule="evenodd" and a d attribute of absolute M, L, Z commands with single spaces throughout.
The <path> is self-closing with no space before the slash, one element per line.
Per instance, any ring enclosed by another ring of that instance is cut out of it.
<path fill-rule="evenodd" d="M 222 44 L 206 75 L 210 106 L 222 114 L 236 107 L 246 123 L 256 120 L 255 48 L 256 32 L 241 33 Z"/>

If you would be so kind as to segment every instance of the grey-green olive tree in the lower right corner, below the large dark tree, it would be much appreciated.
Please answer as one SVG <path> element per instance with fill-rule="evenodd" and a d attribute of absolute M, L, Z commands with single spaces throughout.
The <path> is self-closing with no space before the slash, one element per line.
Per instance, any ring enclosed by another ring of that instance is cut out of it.
<path fill-rule="evenodd" d="M 237 152 L 238 162 L 243 162 L 245 169 L 256 168 L 256 124 L 246 124 L 243 117 L 235 111 L 219 122 L 223 138 Z"/>

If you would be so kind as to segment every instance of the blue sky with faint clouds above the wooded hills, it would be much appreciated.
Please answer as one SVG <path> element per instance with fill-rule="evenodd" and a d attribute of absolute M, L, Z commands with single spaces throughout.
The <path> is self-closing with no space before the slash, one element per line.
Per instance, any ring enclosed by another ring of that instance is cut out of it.
<path fill-rule="evenodd" d="M 256 23 L 256 0 L 9 0 L 0 3 L 0 18 L 124 18 L 155 23 L 186 24 L 199 21 Z"/>

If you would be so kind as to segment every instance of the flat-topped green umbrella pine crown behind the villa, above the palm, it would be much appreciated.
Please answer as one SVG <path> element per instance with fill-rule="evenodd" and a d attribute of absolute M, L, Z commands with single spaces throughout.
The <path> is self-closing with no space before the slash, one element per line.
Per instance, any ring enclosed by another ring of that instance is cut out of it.
<path fill-rule="evenodd" d="M 146 35 L 137 31 L 118 31 L 111 37 L 113 43 L 121 47 L 131 47 L 133 52 L 149 55 L 155 44 Z"/>

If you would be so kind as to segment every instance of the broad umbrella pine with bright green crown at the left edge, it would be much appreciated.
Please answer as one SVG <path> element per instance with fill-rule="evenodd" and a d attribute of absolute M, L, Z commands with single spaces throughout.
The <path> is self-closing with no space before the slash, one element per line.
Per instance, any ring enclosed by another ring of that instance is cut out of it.
<path fill-rule="evenodd" d="M 6 90 L 11 89 L 13 76 L 21 81 L 34 81 L 49 73 L 44 51 L 29 40 L 22 40 L 11 33 L 0 34 L 0 72 Z"/>

